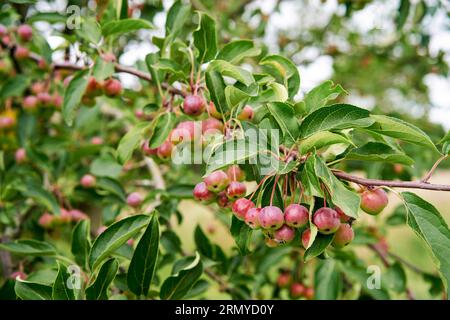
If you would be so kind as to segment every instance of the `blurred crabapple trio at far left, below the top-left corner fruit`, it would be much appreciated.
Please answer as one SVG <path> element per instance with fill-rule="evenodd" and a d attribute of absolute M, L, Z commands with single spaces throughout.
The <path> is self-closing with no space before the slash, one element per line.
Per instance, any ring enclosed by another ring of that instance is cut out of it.
<path fill-rule="evenodd" d="M 30 87 L 30 95 L 23 98 L 22 107 L 26 111 L 35 111 L 38 107 L 61 108 L 63 98 L 58 91 L 50 93 L 48 84 L 34 82 Z"/>

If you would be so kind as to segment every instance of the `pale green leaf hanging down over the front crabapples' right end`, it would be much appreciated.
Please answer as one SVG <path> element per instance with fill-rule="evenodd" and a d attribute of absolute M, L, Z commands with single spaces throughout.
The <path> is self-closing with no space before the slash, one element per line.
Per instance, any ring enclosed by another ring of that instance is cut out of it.
<path fill-rule="evenodd" d="M 357 219 L 361 202 L 360 197 L 355 192 L 348 190 L 319 156 L 315 155 L 314 158 L 316 176 L 327 186 L 333 204 L 341 208 L 346 215 Z"/>

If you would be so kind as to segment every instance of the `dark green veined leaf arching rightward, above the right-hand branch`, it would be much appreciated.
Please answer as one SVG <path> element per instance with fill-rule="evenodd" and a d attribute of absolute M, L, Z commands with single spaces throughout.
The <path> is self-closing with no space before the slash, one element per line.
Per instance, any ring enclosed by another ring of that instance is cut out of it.
<path fill-rule="evenodd" d="M 309 114 L 300 126 L 301 136 L 307 138 L 319 131 L 368 127 L 374 123 L 369 111 L 350 104 L 333 104 Z"/>

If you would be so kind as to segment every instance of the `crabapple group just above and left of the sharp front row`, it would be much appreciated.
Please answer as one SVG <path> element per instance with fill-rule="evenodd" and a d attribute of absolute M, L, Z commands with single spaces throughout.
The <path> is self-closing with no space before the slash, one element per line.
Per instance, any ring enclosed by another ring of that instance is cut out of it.
<path fill-rule="evenodd" d="M 214 171 L 194 187 L 194 198 L 204 204 L 216 202 L 222 208 L 229 208 L 246 195 L 244 179 L 245 174 L 237 165 L 230 166 L 227 172 Z"/>

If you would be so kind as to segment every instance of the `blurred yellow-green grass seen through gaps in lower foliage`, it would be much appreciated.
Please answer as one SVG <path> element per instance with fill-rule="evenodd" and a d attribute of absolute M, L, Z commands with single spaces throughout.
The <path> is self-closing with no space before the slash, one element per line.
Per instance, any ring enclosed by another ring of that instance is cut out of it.
<path fill-rule="evenodd" d="M 432 183 L 449 184 L 450 170 L 436 171 L 432 179 Z M 397 189 L 397 191 L 404 191 Z M 429 190 L 408 190 L 416 192 L 420 197 L 433 204 L 443 215 L 447 224 L 450 223 L 450 196 L 445 192 L 429 191 Z M 393 193 L 390 193 L 390 202 L 388 207 L 381 216 L 376 219 L 387 218 L 392 211 L 401 204 L 400 199 Z M 174 227 L 177 234 L 182 237 L 183 249 L 186 252 L 195 251 L 195 243 L 193 239 L 194 229 L 200 224 L 205 232 L 209 233 L 212 242 L 219 244 L 225 252 L 230 252 L 234 246 L 234 240 L 230 235 L 227 227 L 217 219 L 212 208 L 200 205 L 194 201 L 183 201 L 179 206 L 180 212 L 183 214 L 183 223 Z M 362 215 L 362 219 L 358 223 L 377 224 L 375 218 L 368 215 Z M 176 224 L 174 224 L 176 225 Z M 419 238 L 408 226 L 394 226 L 388 228 L 387 241 L 390 251 L 406 261 L 416 265 L 418 268 L 436 273 L 436 269 L 432 262 L 432 258 Z M 354 247 L 355 248 L 355 247 Z M 380 260 L 364 247 L 355 248 L 361 258 L 367 264 L 377 264 L 381 266 Z M 273 277 L 276 277 L 276 268 L 272 268 Z M 405 268 L 407 274 L 407 285 L 414 293 L 416 299 L 430 299 L 428 293 L 429 284 L 423 281 L 422 277 L 417 273 Z M 169 272 L 169 271 L 168 271 Z M 227 299 L 228 295 L 221 294 L 216 286 L 212 285 L 206 295 L 207 299 Z M 404 299 L 405 296 L 393 296 L 393 299 Z"/>

